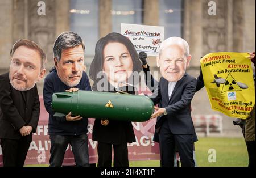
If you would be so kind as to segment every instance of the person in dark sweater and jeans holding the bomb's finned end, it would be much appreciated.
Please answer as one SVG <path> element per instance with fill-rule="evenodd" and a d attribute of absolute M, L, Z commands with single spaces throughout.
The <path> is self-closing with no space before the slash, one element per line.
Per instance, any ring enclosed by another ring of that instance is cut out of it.
<path fill-rule="evenodd" d="M 55 92 L 75 92 L 91 90 L 84 69 L 85 45 L 81 37 L 74 32 L 61 33 L 54 45 L 55 67 L 44 79 L 44 106 L 49 113 L 49 138 L 51 141 L 51 167 L 62 166 L 68 144 L 72 146 L 76 166 L 89 166 L 88 118 L 73 116 L 55 117 L 52 110 L 52 94 Z"/>

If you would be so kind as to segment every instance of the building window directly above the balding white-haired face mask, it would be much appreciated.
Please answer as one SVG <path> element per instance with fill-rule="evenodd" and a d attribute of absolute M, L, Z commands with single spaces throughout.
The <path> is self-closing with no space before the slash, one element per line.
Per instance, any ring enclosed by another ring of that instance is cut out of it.
<path fill-rule="evenodd" d="M 164 26 L 164 39 L 183 37 L 183 0 L 159 0 L 159 26 Z"/>

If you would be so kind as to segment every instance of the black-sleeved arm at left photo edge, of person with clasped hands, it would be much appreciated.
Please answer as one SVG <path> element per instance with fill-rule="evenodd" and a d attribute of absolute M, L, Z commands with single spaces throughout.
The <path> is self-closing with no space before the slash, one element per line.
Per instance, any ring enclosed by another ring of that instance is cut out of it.
<path fill-rule="evenodd" d="M 9 80 L 9 79 L 8 79 Z M 18 109 L 13 103 L 13 98 L 11 98 L 11 89 L 9 81 L 3 76 L 0 77 L 0 107 L 2 112 L 5 113 L 6 118 L 13 126 L 14 130 L 19 130 L 23 128 L 26 124 L 22 116 L 19 115 Z"/>

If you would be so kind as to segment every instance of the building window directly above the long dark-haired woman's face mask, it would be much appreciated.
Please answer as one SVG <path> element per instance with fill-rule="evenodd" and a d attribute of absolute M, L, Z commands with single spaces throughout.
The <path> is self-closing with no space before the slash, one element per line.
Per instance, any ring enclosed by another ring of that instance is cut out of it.
<path fill-rule="evenodd" d="M 143 23 L 143 0 L 112 0 L 112 32 L 121 32 L 121 23 Z"/>

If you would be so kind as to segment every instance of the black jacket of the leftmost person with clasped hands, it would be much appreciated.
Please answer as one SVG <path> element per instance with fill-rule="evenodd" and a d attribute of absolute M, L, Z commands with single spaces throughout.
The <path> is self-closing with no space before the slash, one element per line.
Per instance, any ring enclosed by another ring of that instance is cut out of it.
<path fill-rule="evenodd" d="M 32 141 L 36 132 L 40 113 L 40 103 L 36 85 L 27 91 L 15 90 L 10 83 L 9 73 L 0 75 L 0 138 L 20 139 L 19 129 L 32 126 L 27 136 Z"/>

